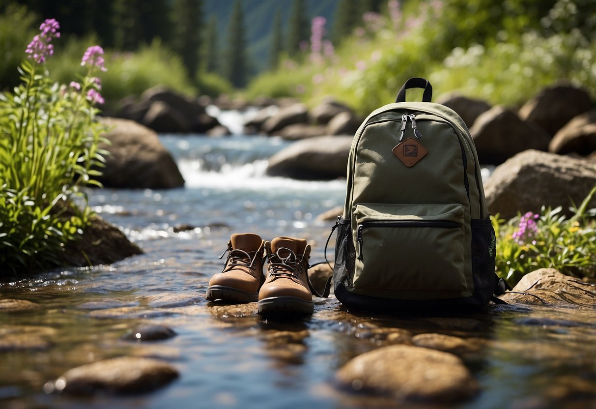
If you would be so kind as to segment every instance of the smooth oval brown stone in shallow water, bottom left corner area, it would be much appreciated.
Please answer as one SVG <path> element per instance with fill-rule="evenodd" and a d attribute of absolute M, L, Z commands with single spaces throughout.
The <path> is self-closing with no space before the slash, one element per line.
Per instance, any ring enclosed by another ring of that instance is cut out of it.
<path fill-rule="evenodd" d="M 72 395 L 141 393 L 161 388 L 176 377 L 178 370 L 166 362 L 119 357 L 73 368 L 54 382 L 54 388 Z"/>

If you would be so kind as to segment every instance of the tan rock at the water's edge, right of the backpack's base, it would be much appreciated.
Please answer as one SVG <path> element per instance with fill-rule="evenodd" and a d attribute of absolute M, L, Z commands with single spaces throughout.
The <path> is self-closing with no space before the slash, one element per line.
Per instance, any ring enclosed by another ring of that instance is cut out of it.
<path fill-rule="evenodd" d="M 595 286 L 554 268 L 541 268 L 524 275 L 512 291 L 539 296 L 549 304 L 596 306 Z M 538 298 L 526 294 L 505 293 L 499 298 L 508 303 L 542 304 Z"/>

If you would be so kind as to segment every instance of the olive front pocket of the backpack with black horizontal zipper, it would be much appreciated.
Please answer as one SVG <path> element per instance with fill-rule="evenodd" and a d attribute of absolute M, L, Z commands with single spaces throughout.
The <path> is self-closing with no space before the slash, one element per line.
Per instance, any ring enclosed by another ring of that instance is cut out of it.
<path fill-rule="evenodd" d="M 361 203 L 354 216 L 354 289 L 466 289 L 461 204 Z"/>

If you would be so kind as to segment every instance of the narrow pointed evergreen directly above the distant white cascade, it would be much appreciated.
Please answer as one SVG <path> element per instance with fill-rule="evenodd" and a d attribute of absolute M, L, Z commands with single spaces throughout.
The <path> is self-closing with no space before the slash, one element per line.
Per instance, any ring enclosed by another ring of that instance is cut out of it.
<path fill-rule="evenodd" d="M 246 85 L 246 39 L 244 14 L 240 0 L 234 1 L 234 10 L 228 24 L 228 47 L 226 48 L 226 78 L 236 88 Z"/>

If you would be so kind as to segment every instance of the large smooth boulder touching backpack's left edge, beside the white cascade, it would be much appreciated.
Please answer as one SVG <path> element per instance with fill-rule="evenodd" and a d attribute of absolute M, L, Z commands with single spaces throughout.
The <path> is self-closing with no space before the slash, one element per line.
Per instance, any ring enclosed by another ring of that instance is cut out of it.
<path fill-rule="evenodd" d="M 269 159 L 267 174 L 294 179 L 346 177 L 352 137 L 315 137 L 294 142 Z"/>

